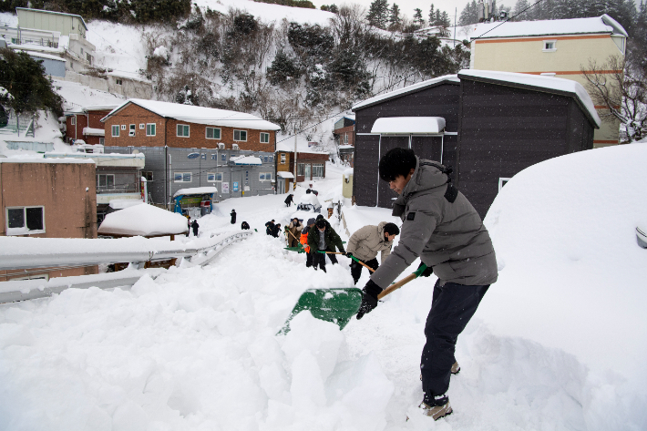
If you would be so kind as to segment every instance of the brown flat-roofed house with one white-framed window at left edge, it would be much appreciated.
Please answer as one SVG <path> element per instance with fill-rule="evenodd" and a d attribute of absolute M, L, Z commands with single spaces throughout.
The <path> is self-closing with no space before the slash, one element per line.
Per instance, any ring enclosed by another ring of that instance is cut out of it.
<path fill-rule="evenodd" d="M 0 159 L 0 236 L 97 238 L 92 160 Z M 0 281 L 94 274 L 98 267 L 0 271 Z"/>

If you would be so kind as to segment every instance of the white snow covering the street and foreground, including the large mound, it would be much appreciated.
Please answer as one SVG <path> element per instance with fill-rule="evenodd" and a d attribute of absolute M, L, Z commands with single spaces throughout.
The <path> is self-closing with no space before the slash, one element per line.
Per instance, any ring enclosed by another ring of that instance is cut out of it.
<path fill-rule="evenodd" d="M 1 305 L 0 429 L 645 429 L 647 251 L 632 236 L 647 221 L 645 156 L 647 144 L 572 154 L 504 187 L 487 217 L 499 281 L 458 338 L 455 413 L 438 422 L 415 408 L 433 276 L 344 331 L 301 313 L 276 335 L 303 290 L 353 285 L 345 257 L 314 272 L 264 234 L 295 210 L 277 195 L 199 220 L 201 235 L 259 231 L 205 268 Z M 343 171 L 313 184 L 321 201 Z M 344 214 L 351 231 L 393 220 Z"/>

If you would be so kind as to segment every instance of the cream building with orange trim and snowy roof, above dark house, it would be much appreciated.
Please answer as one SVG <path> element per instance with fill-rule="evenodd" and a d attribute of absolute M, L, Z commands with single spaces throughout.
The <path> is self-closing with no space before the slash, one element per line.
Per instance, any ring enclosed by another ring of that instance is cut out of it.
<path fill-rule="evenodd" d="M 479 25 L 471 36 L 470 68 L 561 77 L 586 87 L 581 67 L 624 56 L 627 42 L 627 32 L 609 15 L 499 24 Z M 618 120 L 605 120 L 594 147 L 617 144 L 619 128 Z"/>

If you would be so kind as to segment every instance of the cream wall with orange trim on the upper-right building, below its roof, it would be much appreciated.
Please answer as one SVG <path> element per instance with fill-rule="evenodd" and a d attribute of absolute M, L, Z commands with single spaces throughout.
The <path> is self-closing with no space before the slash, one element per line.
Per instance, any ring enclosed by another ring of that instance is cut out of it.
<path fill-rule="evenodd" d="M 619 40 L 609 35 L 481 39 L 472 42 L 473 68 L 533 75 L 554 73 L 555 77 L 579 82 L 586 88 L 581 67 L 587 67 L 590 60 L 601 66 L 609 56 L 624 56 Z M 544 41 L 555 41 L 555 50 L 544 51 Z M 603 113 L 602 107 L 596 108 Z M 619 126 L 618 121 L 603 122 L 595 130 L 595 147 L 617 144 Z"/>

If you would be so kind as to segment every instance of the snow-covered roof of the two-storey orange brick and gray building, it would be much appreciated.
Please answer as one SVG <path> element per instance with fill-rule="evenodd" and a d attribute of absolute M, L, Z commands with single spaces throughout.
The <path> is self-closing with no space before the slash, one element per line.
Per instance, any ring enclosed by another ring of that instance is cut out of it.
<path fill-rule="evenodd" d="M 265 121 L 262 118 L 245 114 L 244 112 L 229 111 L 225 109 L 203 108 L 180 103 L 160 102 L 158 100 L 144 100 L 141 98 L 129 98 L 124 103 L 114 108 L 101 121 L 106 121 L 125 108 L 128 104 L 138 105 L 141 108 L 158 114 L 165 118 L 175 118 L 188 123 L 207 124 L 210 126 L 223 126 L 229 128 L 253 128 L 257 130 L 280 130 L 281 127 Z"/>

